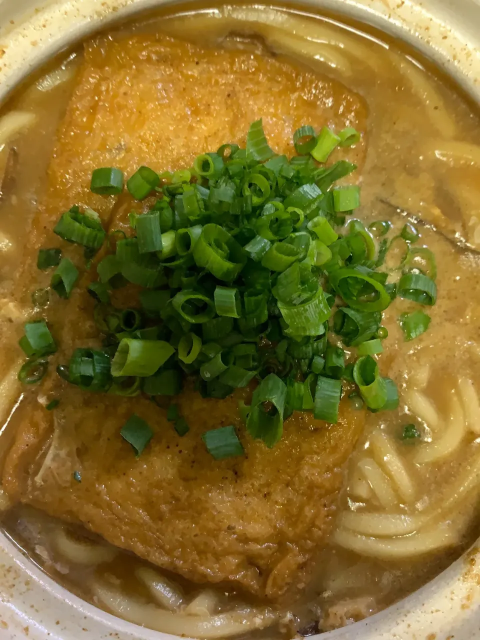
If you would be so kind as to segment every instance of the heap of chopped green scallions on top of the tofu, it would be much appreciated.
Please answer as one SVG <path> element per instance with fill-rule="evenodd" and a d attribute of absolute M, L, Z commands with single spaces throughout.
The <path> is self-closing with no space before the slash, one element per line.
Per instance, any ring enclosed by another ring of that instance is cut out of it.
<path fill-rule="evenodd" d="M 410 225 L 388 239 L 386 221 L 368 230 L 358 220 L 346 222 L 360 204 L 359 188 L 333 184 L 356 167 L 324 163 L 335 147 L 359 138 L 351 128 L 336 135 L 324 127 L 316 135 L 301 127 L 294 134 L 299 155 L 289 160 L 271 150 L 258 120 L 246 149 L 222 145 L 173 174 L 140 167 L 128 191 L 135 200 L 157 200 L 149 211 L 130 214 L 129 237 L 118 230 L 107 237 L 92 209 L 65 212 L 54 231 L 83 245 L 86 268 L 97 272 L 88 292 L 97 300 L 103 346 L 76 349 L 58 374 L 84 390 L 154 401 L 178 394 L 186 377 L 202 396 L 215 398 L 255 381 L 251 405 L 239 410 L 248 433 L 268 447 L 294 410 L 336 422 L 342 380 L 369 410 L 396 408 L 396 385 L 372 357 L 387 337 L 381 312 L 396 296 L 433 305 L 435 260 L 428 249 L 412 247 L 418 234 Z M 90 189 L 119 194 L 124 175 L 99 168 Z M 106 241 L 115 250 L 93 261 Z M 397 264 L 382 270 L 389 254 L 399 256 Z M 38 268 L 55 268 L 51 291 L 70 296 L 79 271 L 60 248 L 40 250 Z M 392 271 L 402 274 L 397 284 L 388 282 Z M 138 304 L 113 307 L 111 292 L 132 285 Z M 49 291 L 34 295 L 42 305 Z M 428 328 L 429 317 L 417 310 L 399 321 L 412 339 Z M 328 332 L 355 360 L 346 362 Z M 56 351 L 45 320 L 26 324 L 20 346 L 30 358 L 20 380 L 41 380 Z M 179 435 L 187 433 L 176 404 L 168 417 Z M 132 415 L 122 435 L 140 453 L 152 431 Z M 243 451 L 233 427 L 202 437 L 215 458 Z"/>

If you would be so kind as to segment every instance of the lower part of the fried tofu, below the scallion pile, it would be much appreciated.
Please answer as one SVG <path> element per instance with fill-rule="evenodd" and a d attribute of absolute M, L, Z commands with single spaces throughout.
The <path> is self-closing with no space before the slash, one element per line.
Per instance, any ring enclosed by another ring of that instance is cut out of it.
<path fill-rule="evenodd" d="M 364 413 L 348 400 L 336 425 L 294 413 L 268 449 L 237 417 L 245 393 L 217 400 L 183 392 L 177 401 L 190 431 L 180 438 L 147 399 L 74 388 L 54 417 L 24 408 L 3 487 L 195 582 L 230 582 L 276 598 L 330 532 L 342 465 Z M 120 436 L 132 411 L 154 431 L 138 458 Z M 245 454 L 214 460 L 200 436 L 228 424 Z"/>

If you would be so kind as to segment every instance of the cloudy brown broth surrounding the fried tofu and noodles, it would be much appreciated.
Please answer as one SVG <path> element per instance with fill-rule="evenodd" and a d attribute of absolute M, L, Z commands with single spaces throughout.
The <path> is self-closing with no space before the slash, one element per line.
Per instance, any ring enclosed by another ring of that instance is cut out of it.
<path fill-rule="evenodd" d="M 205 5 L 205 8 L 210 6 Z M 306 68 L 313 68 L 319 73 L 326 72 L 338 79 L 367 102 L 368 152 L 361 174 L 362 207 L 358 211 L 358 218 L 365 223 L 389 220 L 396 232 L 401 231 L 406 220 L 418 218 L 419 244 L 428 246 L 436 256 L 439 294 L 435 307 L 428 309 L 432 319 L 429 331 L 413 342 L 403 341 L 397 317 L 417 306 L 408 300 L 397 299 L 385 312 L 383 324 L 388 329 L 388 339 L 385 340 L 385 351 L 381 354 L 379 363 L 383 374 L 396 380 L 399 385 L 401 403 L 394 412 L 369 415 L 364 434 L 358 440 L 349 461 L 339 513 L 374 511 L 410 516 L 428 512 L 428 509 L 436 508 L 439 497 L 445 495 L 449 486 L 462 473 L 464 461 L 472 456 L 478 457 L 477 433 L 466 429 L 463 440 L 451 454 L 431 464 L 417 464 L 415 456 L 419 447 L 435 441 L 437 436 L 431 425 L 408 408 L 403 399 L 404 394 L 412 389 L 420 390 L 436 408 L 442 422 L 442 427 L 438 428 L 441 430 L 449 424 L 451 392 L 457 388 L 459 376 L 471 380 L 474 388 L 480 385 L 480 234 L 476 234 L 480 225 L 480 209 L 465 209 L 465 199 L 461 197 L 461 185 L 463 191 L 477 193 L 475 184 L 479 168 L 451 168 L 447 163 L 436 159 L 431 149 L 435 149 L 435 141 L 442 138 L 442 122 L 446 123 L 451 140 L 480 144 L 479 117 L 465 97 L 459 95 L 454 86 L 445 81 L 435 69 L 429 65 L 422 67 L 423 61 L 417 63 L 415 52 L 406 50 L 402 44 L 392 42 L 380 33 L 363 33 L 363 27 L 359 28 L 358 25 L 342 26 L 333 19 L 325 22 L 322 17 L 305 18 L 303 14 L 287 12 L 294 19 L 307 20 L 312 25 L 319 20 L 318 24 L 326 24 L 329 29 L 333 29 L 340 40 L 347 37 L 344 49 L 338 48 L 336 51 L 342 60 L 347 61 L 351 70 L 349 74 L 344 74 L 338 68 L 326 67 L 321 61 L 308 58 L 305 51 L 301 54 L 292 51 L 291 42 L 285 44 L 287 41 L 283 42 L 280 36 L 276 42 L 269 44 L 268 37 L 266 42 L 261 35 L 253 38 L 250 35 L 252 28 L 244 33 L 245 30 L 239 23 L 233 28 L 234 33 L 230 34 L 232 26 L 225 20 L 213 17 L 208 19 L 195 12 L 188 15 L 181 28 L 178 23 L 175 24 L 175 16 L 173 28 L 170 18 L 161 16 L 160 19 L 154 17 L 135 25 L 122 26 L 120 30 L 148 33 L 164 29 L 167 33 L 182 36 L 186 40 L 200 38 L 201 42 L 219 47 L 252 49 L 261 51 L 266 56 L 276 55 L 280 59 L 284 56 L 285 59 L 293 57 Z M 201 21 L 200 29 L 197 20 Z M 373 70 L 369 63 L 362 61 L 362 52 L 371 56 L 374 61 Z M 81 59 L 81 56 L 81 52 L 78 52 L 77 59 Z M 413 78 L 413 84 L 412 73 L 405 72 L 406 68 L 410 68 L 408 65 L 412 65 L 410 60 L 414 60 L 417 65 L 418 77 Z M 36 203 L 44 194 L 45 175 L 54 147 L 55 132 L 65 113 L 75 82 L 74 75 L 69 81 L 45 93 L 38 91 L 33 84 L 27 84 L 3 109 L 3 113 L 13 109 L 36 113 L 38 125 L 15 138 L 15 171 L 8 184 L 4 183 L 0 201 L 0 231 L 15 247 L 10 252 L 8 249 L 0 251 L 0 287 L 3 298 L 0 310 L 3 316 L 0 325 L 4 363 L 2 373 L 8 369 L 8 362 L 18 356 L 16 342 L 22 335 L 23 321 L 19 314 L 24 307 L 17 302 L 9 305 L 10 296 L 15 290 L 17 272 L 17 258 L 13 256 L 21 255 L 26 243 L 26 230 L 36 211 Z M 417 82 L 425 83 L 423 88 L 419 89 L 419 85 L 415 84 Z M 426 96 L 438 104 L 430 102 L 426 108 Z M 468 243 L 467 248 L 465 243 Z M 32 275 L 33 280 L 36 277 Z M 40 276 L 38 282 L 33 282 L 31 289 L 37 286 L 45 286 L 43 276 Z M 419 372 L 426 365 L 429 367 L 429 375 L 423 385 L 419 381 Z M 24 412 L 34 406 L 37 403 L 36 396 L 38 392 L 35 389 L 26 390 L 20 409 Z M 13 414 L 3 429 L 3 451 L 6 451 L 15 434 L 18 413 Z M 409 423 L 417 426 L 424 442 L 401 440 L 403 427 Z M 372 454 L 371 436 L 379 429 L 388 437 L 388 442 L 393 443 L 408 472 L 414 495 L 412 500 L 403 499 L 393 483 L 392 491 L 396 495 L 397 504 L 390 509 L 381 506 L 374 490 L 365 484 L 365 478 L 362 484 L 364 497 L 359 498 L 358 493 L 356 496 L 352 493 L 352 482 L 359 461 L 375 457 Z M 286 625 L 287 630 L 285 625 L 282 627 L 285 634 L 291 635 L 294 629 L 307 628 L 312 622 L 319 622 L 320 630 L 329 630 L 363 618 L 428 582 L 460 556 L 474 540 L 478 515 L 476 502 L 477 494 L 472 495 L 470 492 L 460 504 L 454 504 L 446 513 L 440 513 L 434 522 L 437 525 L 439 522 L 447 522 L 454 528 L 456 544 L 420 557 L 406 556 L 388 560 L 362 556 L 340 547 L 333 540 L 309 566 L 310 581 L 303 589 L 301 598 L 293 604 L 287 598 L 282 605 L 282 611 L 293 614 L 293 621 Z M 472 509 L 475 513 L 473 518 Z M 108 574 L 113 576 L 113 582 L 125 584 L 125 577 L 131 575 L 140 563 L 131 554 L 121 553 L 113 563 L 79 570 L 74 564 L 56 557 L 56 550 L 52 548 L 52 532 L 58 529 L 58 522 L 43 513 L 36 513 L 28 506 L 15 506 L 8 511 L 4 516 L 4 525 L 8 534 L 36 562 L 44 566 L 47 572 L 87 600 L 92 600 L 92 594 L 85 585 L 93 574 Z M 170 575 L 170 579 L 177 580 L 190 595 L 195 595 L 198 591 L 198 586 L 175 575 Z M 138 581 L 131 582 L 130 590 L 148 597 L 145 587 Z M 232 607 L 232 603 L 248 600 L 239 591 L 228 595 L 225 588 L 219 588 L 219 593 L 219 611 Z M 311 627 L 312 630 L 316 628 Z"/>

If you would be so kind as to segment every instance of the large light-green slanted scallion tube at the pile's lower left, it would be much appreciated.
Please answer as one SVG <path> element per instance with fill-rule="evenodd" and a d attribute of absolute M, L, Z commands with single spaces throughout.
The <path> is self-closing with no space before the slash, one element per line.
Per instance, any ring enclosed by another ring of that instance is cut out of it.
<path fill-rule="evenodd" d="M 164 340 L 120 340 L 111 363 L 111 374 L 118 376 L 153 376 L 175 349 Z"/>

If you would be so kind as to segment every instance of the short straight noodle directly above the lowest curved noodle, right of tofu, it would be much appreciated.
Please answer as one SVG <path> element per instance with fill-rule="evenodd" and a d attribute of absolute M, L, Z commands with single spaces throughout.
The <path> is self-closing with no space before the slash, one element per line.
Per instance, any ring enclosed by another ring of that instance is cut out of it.
<path fill-rule="evenodd" d="M 350 529 L 365 536 L 394 538 L 419 531 L 428 518 L 426 515 L 403 513 L 367 513 L 367 511 L 344 511 L 339 518 L 339 528 Z"/>

